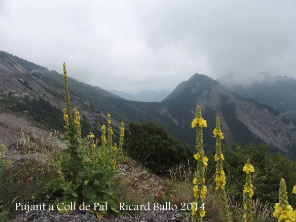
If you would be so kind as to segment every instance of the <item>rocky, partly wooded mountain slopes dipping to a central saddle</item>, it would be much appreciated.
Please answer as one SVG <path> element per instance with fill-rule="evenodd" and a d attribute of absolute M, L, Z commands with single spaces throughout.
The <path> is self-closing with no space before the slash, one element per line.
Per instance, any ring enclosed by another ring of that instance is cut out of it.
<path fill-rule="evenodd" d="M 17 113 L 39 125 L 46 125 L 51 118 L 56 125 L 50 127 L 62 127 L 63 120 L 59 114 L 60 109 L 65 107 L 62 74 L 0 52 L 0 78 L 1 112 Z M 115 137 L 118 137 L 120 121 L 127 125 L 129 121 L 144 122 L 150 119 L 164 125 L 172 136 L 194 148 L 195 131 L 191 129 L 191 120 L 196 105 L 200 105 L 204 118 L 208 120 L 208 127 L 204 129 L 206 148 L 215 145 L 213 129 L 215 117 L 219 115 L 228 145 L 264 142 L 270 148 L 288 152 L 292 156 L 296 153 L 296 126 L 285 114 L 231 93 L 206 75 L 194 74 L 159 103 L 124 100 L 73 78 L 69 78 L 69 89 L 72 103 L 81 113 L 85 133 L 93 131 L 99 136 L 98 128 L 106 123 L 106 114 L 110 112 Z M 36 100 L 34 103 L 33 99 Z M 45 107 L 48 111 L 36 117 L 25 109 L 34 111 L 37 109 L 34 104 L 37 103 L 40 104 L 37 108 Z M 55 115 L 47 116 L 48 113 Z"/>

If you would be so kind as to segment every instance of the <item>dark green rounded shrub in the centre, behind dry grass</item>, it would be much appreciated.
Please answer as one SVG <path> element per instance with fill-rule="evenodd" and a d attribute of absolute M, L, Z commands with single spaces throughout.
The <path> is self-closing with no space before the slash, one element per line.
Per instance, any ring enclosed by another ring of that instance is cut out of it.
<path fill-rule="evenodd" d="M 177 164 L 193 163 L 188 145 L 170 136 L 163 126 L 152 121 L 131 122 L 125 139 L 126 152 L 157 174 L 165 174 Z"/>

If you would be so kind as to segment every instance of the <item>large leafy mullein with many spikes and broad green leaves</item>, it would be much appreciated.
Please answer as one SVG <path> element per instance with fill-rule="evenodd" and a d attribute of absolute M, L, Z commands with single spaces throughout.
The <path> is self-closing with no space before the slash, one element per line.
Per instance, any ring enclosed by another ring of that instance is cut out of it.
<path fill-rule="evenodd" d="M 61 140 L 67 145 L 59 153 L 57 172 L 59 178 L 50 182 L 47 187 L 52 189 L 54 204 L 82 203 L 93 205 L 93 203 L 108 204 L 108 211 L 117 212 L 116 205 L 118 204 L 117 195 L 112 188 L 114 178 L 117 171 L 115 167 L 120 162 L 116 156 L 116 161 L 113 158 L 113 150 L 107 148 L 112 140 L 112 129 L 110 115 L 109 123 L 109 141 L 106 141 L 106 130 L 102 130 L 102 135 L 105 140 L 99 149 L 96 149 L 94 135 L 90 133 L 90 149 L 88 148 L 87 137 L 81 138 L 80 116 L 79 112 L 74 108 L 71 109 L 69 89 L 68 89 L 68 74 L 66 64 L 64 63 L 64 81 L 67 109 L 64 109 L 64 120 L 66 133 Z M 74 111 L 74 115 L 72 115 Z M 104 142 L 105 141 L 105 142 Z M 106 209 L 107 210 L 107 209 Z M 106 214 L 106 210 L 91 210 L 98 217 Z M 67 212 L 62 210 L 60 212 Z"/>

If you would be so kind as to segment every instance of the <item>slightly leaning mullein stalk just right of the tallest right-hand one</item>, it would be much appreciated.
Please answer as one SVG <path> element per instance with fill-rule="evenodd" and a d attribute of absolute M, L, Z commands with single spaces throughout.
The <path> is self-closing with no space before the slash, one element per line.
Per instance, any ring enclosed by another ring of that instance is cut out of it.
<path fill-rule="evenodd" d="M 222 161 L 224 160 L 224 156 L 221 150 L 221 140 L 224 139 L 223 133 L 220 129 L 220 120 L 217 116 L 216 118 L 216 128 L 214 129 L 214 137 L 216 137 L 216 154 L 215 154 L 215 161 L 216 161 L 216 190 L 219 195 L 219 203 L 222 211 L 222 220 L 223 222 L 231 222 L 229 211 L 228 211 L 228 204 L 227 204 L 227 197 L 225 192 L 225 173 L 223 170 Z"/>

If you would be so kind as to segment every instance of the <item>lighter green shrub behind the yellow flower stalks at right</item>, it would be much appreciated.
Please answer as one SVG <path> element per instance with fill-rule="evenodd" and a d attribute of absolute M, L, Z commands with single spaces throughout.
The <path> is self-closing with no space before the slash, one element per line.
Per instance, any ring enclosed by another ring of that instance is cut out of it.
<path fill-rule="evenodd" d="M 208 178 L 212 177 L 215 172 L 214 168 L 214 150 L 208 155 L 209 169 Z M 278 200 L 279 181 L 284 178 L 287 182 L 289 200 L 296 204 L 296 195 L 292 194 L 293 185 L 296 181 L 296 162 L 291 160 L 289 156 L 283 156 L 280 153 L 270 152 L 266 145 L 260 144 L 247 145 L 244 148 L 236 146 L 234 150 L 222 146 L 225 163 L 224 171 L 227 176 L 226 191 L 235 200 L 242 199 L 242 187 L 244 185 L 244 174 L 241 169 L 244 167 L 247 159 L 250 159 L 252 165 L 257 169 L 254 175 L 254 199 L 261 202 L 268 201 L 275 203 Z M 212 157 L 212 158 L 211 158 Z"/>

